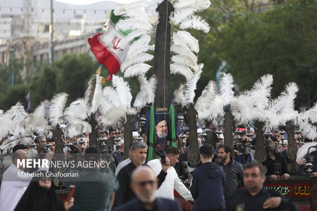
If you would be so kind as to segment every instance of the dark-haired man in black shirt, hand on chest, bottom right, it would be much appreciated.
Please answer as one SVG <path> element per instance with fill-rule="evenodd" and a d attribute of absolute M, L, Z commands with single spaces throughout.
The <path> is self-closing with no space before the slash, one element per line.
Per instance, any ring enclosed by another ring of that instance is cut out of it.
<path fill-rule="evenodd" d="M 267 190 L 264 186 L 264 168 L 260 163 L 244 166 L 244 189 L 236 191 L 229 199 L 227 211 L 289 210 L 299 208 L 278 192 Z"/>

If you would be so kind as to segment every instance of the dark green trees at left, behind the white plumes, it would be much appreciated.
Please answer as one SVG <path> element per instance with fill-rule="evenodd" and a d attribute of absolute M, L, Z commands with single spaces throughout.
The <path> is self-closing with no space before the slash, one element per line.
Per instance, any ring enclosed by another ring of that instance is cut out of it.
<path fill-rule="evenodd" d="M 14 60 L 16 85 L 11 86 L 10 68 L 0 66 L 0 109 L 8 110 L 18 101 L 26 105 L 25 96 L 30 90 L 31 107 L 34 109 L 41 101 L 51 100 L 59 92 L 69 93 L 68 104 L 82 98 L 87 88 L 87 82 L 96 72 L 98 64 L 88 54 L 65 54 L 61 60 L 52 66 L 43 66 L 39 73 L 21 80 L 21 61 Z M 31 81 L 27 83 L 28 81 Z"/>

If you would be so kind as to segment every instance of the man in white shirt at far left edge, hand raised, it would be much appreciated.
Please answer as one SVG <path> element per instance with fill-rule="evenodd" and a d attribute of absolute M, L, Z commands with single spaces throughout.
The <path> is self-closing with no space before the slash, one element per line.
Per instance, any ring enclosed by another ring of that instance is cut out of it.
<path fill-rule="evenodd" d="M 52 160 L 53 153 L 47 153 L 46 159 Z M 20 198 L 27 190 L 32 177 L 18 176 L 18 173 L 25 173 L 22 166 L 17 168 L 17 159 L 28 159 L 24 150 L 17 150 L 12 155 L 12 163 L 4 172 L 0 190 L 0 210 L 13 211 Z M 49 168 L 39 168 L 38 171 L 49 171 Z"/>

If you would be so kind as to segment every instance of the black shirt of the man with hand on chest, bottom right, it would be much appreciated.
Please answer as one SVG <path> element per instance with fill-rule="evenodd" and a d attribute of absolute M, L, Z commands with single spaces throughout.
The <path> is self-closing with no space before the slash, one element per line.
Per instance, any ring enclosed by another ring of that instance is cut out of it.
<path fill-rule="evenodd" d="M 263 209 L 263 203 L 271 197 L 281 197 L 281 204 L 277 208 Z M 265 187 L 255 196 L 252 196 L 246 189 L 237 190 L 230 198 L 226 211 L 244 210 L 244 211 L 273 211 L 289 210 L 299 211 L 299 208 L 278 192 L 267 190 Z"/>

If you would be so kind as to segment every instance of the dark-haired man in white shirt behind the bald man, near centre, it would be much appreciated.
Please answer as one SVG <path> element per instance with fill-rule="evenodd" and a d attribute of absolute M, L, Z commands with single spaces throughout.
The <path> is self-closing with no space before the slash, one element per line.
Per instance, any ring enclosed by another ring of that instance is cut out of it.
<path fill-rule="evenodd" d="M 167 198 L 174 200 L 174 189 L 185 199 L 194 201 L 190 191 L 180 181 L 176 170 L 174 169 L 175 164 L 178 162 L 179 154 L 175 147 L 168 147 L 165 150 L 166 157 L 170 160 L 170 167 L 167 169 L 167 176 L 165 181 L 162 183 L 160 188 L 156 191 L 157 197 Z M 147 163 L 150 166 L 155 175 L 159 175 L 162 171 L 162 164 L 160 159 L 150 160 Z"/>

